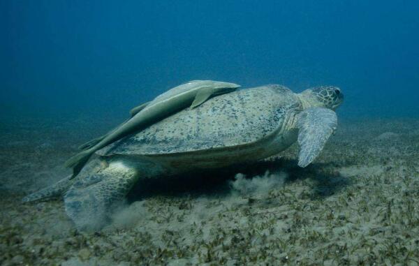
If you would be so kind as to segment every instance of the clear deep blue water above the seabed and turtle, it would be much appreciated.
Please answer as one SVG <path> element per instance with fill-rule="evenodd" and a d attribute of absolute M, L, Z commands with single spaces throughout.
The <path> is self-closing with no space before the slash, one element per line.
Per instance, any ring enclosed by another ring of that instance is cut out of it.
<path fill-rule="evenodd" d="M 0 1 L 1 117 L 122 117 L 187 80 L 341 87 L 419 116 L 418 1 Z"/>

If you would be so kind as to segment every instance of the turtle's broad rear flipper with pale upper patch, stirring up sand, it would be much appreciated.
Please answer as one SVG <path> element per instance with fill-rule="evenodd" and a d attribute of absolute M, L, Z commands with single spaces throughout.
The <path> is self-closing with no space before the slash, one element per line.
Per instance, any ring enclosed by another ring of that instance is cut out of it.
<path fill-rule="evenodd" d="M 135 168 L 123 161 L 103 163 L 103 167 L 80 173 L 64 195 L 66 213 L 79 230 L 99 230 L 109 221 L 112 205 L 122 202 L 138 180 Z"/>

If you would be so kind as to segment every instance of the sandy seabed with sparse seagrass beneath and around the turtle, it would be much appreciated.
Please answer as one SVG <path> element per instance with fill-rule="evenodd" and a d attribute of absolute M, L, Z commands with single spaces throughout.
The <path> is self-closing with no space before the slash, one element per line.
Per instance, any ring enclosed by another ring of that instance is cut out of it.
<path fill-rule="evenodd" d="M 304 169 L 294 145 L 243 169 L 149 180 L 99 232 L 76 230 L 61 199 L 22 204 L 107 128 L 1 123 L 0 265 L 419 265 L 419 119 L 341 121 Z"/>

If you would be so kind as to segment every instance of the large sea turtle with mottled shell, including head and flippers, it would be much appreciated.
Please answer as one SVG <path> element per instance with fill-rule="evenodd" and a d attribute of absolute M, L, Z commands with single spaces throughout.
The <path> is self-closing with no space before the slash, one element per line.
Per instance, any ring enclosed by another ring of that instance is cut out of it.
<path fill-rule="evenodd" d="M 295 94 L 271 84 L 223 94 L 101 149 L 75 179 L 62 179 L 24 201 L 64 195 L 75 225 L 96 230 L 107 223 L 110 206 L 143 178 L 258 161 L 295 141 L 298 165 L 305 167 L 335 131 L 334 110 L 342 101 L 332 86 Z"/>

